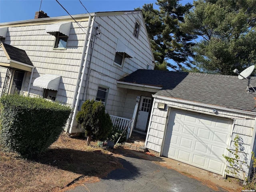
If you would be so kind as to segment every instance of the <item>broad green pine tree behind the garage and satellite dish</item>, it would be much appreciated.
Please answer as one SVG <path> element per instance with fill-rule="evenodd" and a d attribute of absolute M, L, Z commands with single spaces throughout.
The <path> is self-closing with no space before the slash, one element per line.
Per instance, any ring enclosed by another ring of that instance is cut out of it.
<path fill-rule="evenodd" d="M 234 75 L 256 64 L 256 1 L 197 0 L 180 29 L 200 39 L 192 48 L 200 72 Z"/>

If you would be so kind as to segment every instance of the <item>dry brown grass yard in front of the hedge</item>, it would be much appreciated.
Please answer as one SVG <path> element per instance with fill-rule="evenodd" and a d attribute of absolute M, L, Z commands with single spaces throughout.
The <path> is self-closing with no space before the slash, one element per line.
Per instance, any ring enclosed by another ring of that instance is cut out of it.
<path fill-rule="evenodd" d="M 121 166 L 118 158 L 98 148 L 96 143 L 86 146 L 85 140 L 62 134 L 36 160 L 24 160 L 0 150 L 0 191 L 65 191 L 83 182 L 98 182 Z"/>

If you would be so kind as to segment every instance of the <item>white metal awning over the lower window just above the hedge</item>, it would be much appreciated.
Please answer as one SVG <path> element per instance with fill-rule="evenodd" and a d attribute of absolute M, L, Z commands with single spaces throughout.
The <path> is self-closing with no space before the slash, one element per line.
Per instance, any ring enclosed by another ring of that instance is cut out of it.
<path fill-rule="evenodd" d="M 36 78 L 33 82 L 33 86 L 58 91 L 60 78 L 60 75 L 45 74 Z"/>

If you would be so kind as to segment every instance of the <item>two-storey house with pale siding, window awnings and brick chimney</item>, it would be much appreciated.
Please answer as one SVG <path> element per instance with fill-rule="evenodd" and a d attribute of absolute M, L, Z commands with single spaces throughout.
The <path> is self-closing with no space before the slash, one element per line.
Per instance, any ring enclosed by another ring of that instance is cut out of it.
<path fill-rule="evenodd" d="M 18 92 L 69 105 L 70 134 L 82 132 L 75 117 L 88 99 L 103 102 L 112 121 L 128 124 L 137 94 L 119 88 L 117 80 L 154 69 L 141 11 L 72 17 L 40 11 L 32 20 L 1 23 L 0 38 L 0 94 Z"/>

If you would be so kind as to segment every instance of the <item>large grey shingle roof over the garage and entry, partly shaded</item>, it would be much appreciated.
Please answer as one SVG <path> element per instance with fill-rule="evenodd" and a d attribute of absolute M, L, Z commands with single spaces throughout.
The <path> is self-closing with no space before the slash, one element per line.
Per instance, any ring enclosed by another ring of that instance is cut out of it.
<path fill-rule="evenodd" d="M 248 81 L 238 79 L 237 75 L 139 69 L 119 81 L 162 86 L 155 95 L 214 106 L 251 111 L 256 105 L 254 94 L 245 91 Z M 255 77 L 251 84 L 256 86 Z"/>

